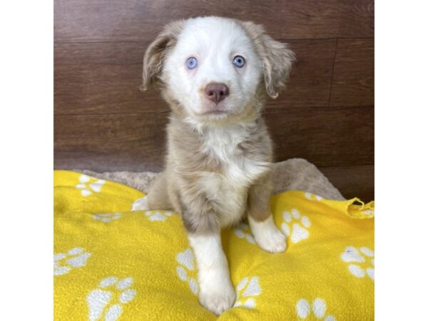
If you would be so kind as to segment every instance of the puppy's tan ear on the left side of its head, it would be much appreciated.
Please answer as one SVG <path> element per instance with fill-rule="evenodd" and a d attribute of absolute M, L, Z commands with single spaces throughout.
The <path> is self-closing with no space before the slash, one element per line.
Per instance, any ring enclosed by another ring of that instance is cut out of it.
<path fill-rule="evenodd" d="M 165 54 L 177 43 L 183 24 L 184 20 L 167 24 L 161 34 L 148 46 L 143 58 L 143 84 L 140 86 L 142 91 L 146 91 L 150 83 L 161 82 Z"/>

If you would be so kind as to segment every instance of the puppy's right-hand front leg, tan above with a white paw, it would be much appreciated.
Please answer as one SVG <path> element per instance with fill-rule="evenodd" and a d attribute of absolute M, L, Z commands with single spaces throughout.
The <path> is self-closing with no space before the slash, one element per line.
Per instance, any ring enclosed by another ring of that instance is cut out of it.
<path fill-rule="evenodd" d="M 248 192 L 248 222 L 255 242 L 270 253 L 284 252 L 285 235 L 276 227 L 270 213 L 270 175 L 260 178 Z"/>

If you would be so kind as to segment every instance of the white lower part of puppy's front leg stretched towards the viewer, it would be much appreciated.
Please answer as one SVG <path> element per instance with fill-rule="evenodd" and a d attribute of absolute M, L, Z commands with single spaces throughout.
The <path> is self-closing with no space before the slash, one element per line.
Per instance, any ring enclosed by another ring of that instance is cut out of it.
<path fill-rule="evenodd" d="M 235 302 L 235 291 L 230 282 L 228 261 L 221 245 L 220 232 L 189 233 L 190 245 L 198 265 L 199 302 L 216 315 Z"/>

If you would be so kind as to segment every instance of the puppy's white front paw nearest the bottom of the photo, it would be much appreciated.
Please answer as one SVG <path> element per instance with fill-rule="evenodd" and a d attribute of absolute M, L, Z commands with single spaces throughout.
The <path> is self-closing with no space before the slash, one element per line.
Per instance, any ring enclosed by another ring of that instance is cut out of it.
<path fill-rule="evenodd" d="M 215 315 L 220 315 L 224 310 L 232 307 L 235 302 L 236 294 L 232 285 L 228 282 L 227 286 L 220 287 L 215 285 L 211 287 L 200 287 L 199 302 Z"/>

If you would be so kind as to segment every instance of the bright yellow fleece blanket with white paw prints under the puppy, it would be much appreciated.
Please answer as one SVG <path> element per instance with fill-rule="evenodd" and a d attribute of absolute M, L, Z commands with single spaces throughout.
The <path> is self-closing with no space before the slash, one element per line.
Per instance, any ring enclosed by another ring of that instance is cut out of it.
<path fill-rule="evenodd" d="M 285 253 L 258 248 L 248 223 L 224 230 L 237 300 L 216 316 L 198 303 L 179 216 L 133 210 L 145 200 L 120 183 L 55 171 L 55 320 L 374 320 L 373 202 L 272 196 Z"/>

